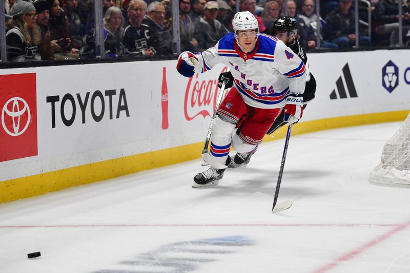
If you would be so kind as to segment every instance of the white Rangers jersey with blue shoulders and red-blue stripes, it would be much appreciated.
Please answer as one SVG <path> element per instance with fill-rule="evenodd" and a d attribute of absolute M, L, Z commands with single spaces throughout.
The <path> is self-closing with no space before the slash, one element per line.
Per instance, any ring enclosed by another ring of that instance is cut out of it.
<path fill-rule="evenodd" d="M 255 49 L 243 53 L 234 34 L 228 33 L 215 47 L 195 56 L 199 60 L 196 72 L 206 72 L 220 62 L 227 65 L 234 77 L 234 86 L 252 107 L 282 108 L 286 96 L 304 91 L 303 61 L 276 37 L 260 34 Z"/>

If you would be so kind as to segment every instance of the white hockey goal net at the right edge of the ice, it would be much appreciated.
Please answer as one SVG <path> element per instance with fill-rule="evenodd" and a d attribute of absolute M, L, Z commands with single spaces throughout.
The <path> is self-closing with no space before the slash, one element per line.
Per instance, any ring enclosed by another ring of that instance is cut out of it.
<path fill-rule="evenodd" d="M 369 182 L 394 187 L 410 187 L 410 114 L 383 148 L 381 162 Z"/>

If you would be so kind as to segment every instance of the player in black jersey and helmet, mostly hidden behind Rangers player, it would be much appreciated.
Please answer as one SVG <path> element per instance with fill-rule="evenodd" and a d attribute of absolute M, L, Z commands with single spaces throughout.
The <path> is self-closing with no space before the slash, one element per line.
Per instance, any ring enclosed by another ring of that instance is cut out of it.
<path fill-rule="evenodd" d="M 299 41 L 297 39 L 297 31 L 298 23 L 295 18 L 281 16 L 276 20 L 276 22 L 273 25 L 273 28 L 267 29 L 265 31 L 265 34 L 276 36 L 279 40 L 283 41 L 283 43 L 286 46 L 290 47 L 293 50 L 293 52 L 295 52 L 303 60 L 306 69 L 306 85 L 305 90 L 303 92 L 303 109 L 305 109 L 306 103 L 308 103 L 315 97 L 316 80 L 310 73 L 308 57 L 306 56 L 304 50 L 299 44 Z M 233 86 L 233 77 L 231 72 L 225 72 L 219 75 L 219 86 L 222 86 L 223 80 L 228 80 L 228 83 L 226 84 L 225 88 L 230 88 Z M 276 130 L 278 130 L 286 124 L 286 122 L 283 121 L 283 116 L 284 114 L 282 112 L 275 119 L 271 128 L 267 132 L 268 135 L 272 134 L 273 132 L 275 132 Z M 237 130 L 237 133 L 239 132 L 240 127 Z M 228 168 L 238 168 L 246 166 L 249 163 L 251 156 L 256 152 L 256 150 L 257 149 L 255 149 L 251 153 L 237 153 L 234 158 L 228 157 Z"/>

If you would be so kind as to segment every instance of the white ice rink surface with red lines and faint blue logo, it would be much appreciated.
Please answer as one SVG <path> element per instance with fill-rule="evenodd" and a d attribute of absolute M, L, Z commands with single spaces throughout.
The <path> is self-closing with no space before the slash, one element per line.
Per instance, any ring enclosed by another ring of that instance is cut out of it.
<path fill-rule="evenodd" d="M 284 139 L 212 188 L 198 159 L 0 204 L 0 272 L 410 272 L 410 188 L 367 181 L 400 125 L 292 136 L 277 214 Z"/>

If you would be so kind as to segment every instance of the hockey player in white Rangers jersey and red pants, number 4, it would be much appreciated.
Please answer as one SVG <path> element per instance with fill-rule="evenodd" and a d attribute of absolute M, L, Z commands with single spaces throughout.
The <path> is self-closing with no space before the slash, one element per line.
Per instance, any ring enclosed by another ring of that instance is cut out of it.
<path fill-rule="evenodd" d="M 192 77 L 222 63 L 234 77 L 234 87 L 216 110 L 210 167 L 194 177 L 192 187 L 217 185 L 231 145 L 238 153 L 252 152 L 282 108 L 286 122 L 296 123 L 302 117 L 303 61 L 282 41 L 260 34 L 252 13 L 236 13 L 232 25 L 234 33 L 223 36 L 215 47 L 198 54 L 182 52 L 178 57 L 177 70 L 183 76 Z"/>

